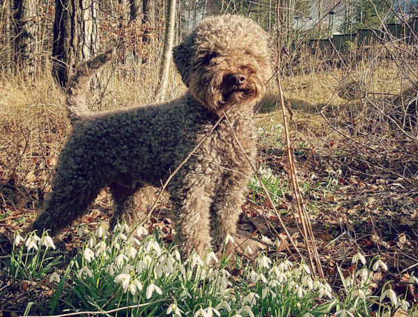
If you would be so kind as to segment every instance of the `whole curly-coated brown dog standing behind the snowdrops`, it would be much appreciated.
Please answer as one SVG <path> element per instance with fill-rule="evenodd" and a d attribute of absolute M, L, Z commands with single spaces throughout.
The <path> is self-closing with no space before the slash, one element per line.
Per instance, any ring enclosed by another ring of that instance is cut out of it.
<path fill-rule="evenodd" d="M 33 229 L 56 234 L 86 212 L 103 187 L 116 211 L 111 225 L 144 219 L 154 187 L 160 186 L 228 111 L 235 134 L 251 161 L 256 157 L 254 105 L 272 75 L 269 36 L 251 20 L 208 17 L 173 49 L 188 87 L 160 105 L 89 112 L 85 93 L 91 77 L 114 50 L 87 61 L 68 88 L 72 134 L 56 168 L 52 194 Z M 224 169 L 223 167 L 226 167 Z M 225 120 L 203 141 L 168 185 L 176 216 L 175 242 L 187 256 L 221 247 L 234 235 L 251 167 Z"/>

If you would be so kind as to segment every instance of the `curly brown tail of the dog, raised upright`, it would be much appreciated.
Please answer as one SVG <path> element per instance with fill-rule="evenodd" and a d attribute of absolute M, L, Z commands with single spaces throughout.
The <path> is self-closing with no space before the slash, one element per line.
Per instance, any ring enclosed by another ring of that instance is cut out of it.
<path fill-rule="evenodd" d="M 105 65 L 109 64 L 115 55 L 115 48 L 95 56 L 93 59 L 84 61 L 68 82 L 67 88 L 67 111 L 71 121 L 77 120 L 83 114 L 88 113 L 86 104 L 86 93 L 90 87 L 91 79 Z"/>

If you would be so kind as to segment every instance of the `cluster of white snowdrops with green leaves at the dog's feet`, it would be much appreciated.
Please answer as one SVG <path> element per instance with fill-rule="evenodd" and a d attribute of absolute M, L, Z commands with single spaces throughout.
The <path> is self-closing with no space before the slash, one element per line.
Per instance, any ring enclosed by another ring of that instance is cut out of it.
<path fill-rule="evenodd" d="M 353 263 L 357 263 L 355 272 L 345 276 L 339 269 L 345 292 L 340 298 L 325 281 L 313 279 L 311 268 L 303 262 L 277 261 L 261 254 L 255 263 L 244 265 L 240 268 L 243 271 L 233 276 L 224 258 L 219 259 L 215 253 L 208 251 L 203 257 L 192 253 L 183 260 L 175 248 L 165 247 L 144 227 L 131 232 L 126 224 L 120 224 L 109 232 L 99 225 L 92 233 L 83 231 L 81 240 L 80 252 L 68 269 L 49 271 L 47 279 L 61 285 L 70 279 L 71 288 L 63 288 L 65 296 L 89 294 L 89 301 L 93 301 L 89 288 L 94 286 L 98 302 L 110 299 L 110 306 L 104 307 L 107 309 L 146 303 L 149 307 L 144 307 L 144 316 L 258 317 L 277 316 L 274 309 L 280 307 L 286 316 L 312 317 L 321 316 L 315 309 L 327 307 L 334 316 L 357 317 L 363 316 L 365 307 L 380 302 L 383 308 L 376 317 L 389 317 L 398 309 L 418 317 L 417 309 L 411 309 L 410 303 L 396 295 L 389 284 L 380 298 L 372 296 L 370 268 L 387 270 L 387 265 L 376 258 L 367 268 L 360 252 L 353 257 Z M 233 237 L 229 236 L 224 245 L 231 242 Z M 46 252 L 55 248 L 47 234 L 40 238 L 35 233 L 26 237 L 15 234 L 13 248 L 20 245 L 38 253 L 40 249 Z M 69 273 L 60 276 L 59 272 Z M 411 275 L 410 280 L 416 282 L 417 278 Z M 74 293 L 69 293 L 72 290 Z"/>

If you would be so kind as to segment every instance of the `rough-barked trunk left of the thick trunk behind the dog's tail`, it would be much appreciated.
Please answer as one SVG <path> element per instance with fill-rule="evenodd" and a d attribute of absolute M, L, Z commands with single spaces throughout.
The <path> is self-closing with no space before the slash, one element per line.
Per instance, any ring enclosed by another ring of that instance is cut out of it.
<path fill-rule="evenodd" d="M 16 45 L 15 62 L 17 67 L 33 77 L 36 65 L 36 23 L 38 15 L 37 0 L 15 0 Z"/>

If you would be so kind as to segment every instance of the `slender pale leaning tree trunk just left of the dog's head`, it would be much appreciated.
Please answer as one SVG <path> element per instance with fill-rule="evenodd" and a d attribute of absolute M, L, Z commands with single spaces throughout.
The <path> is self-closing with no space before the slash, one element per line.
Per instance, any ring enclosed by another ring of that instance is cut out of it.
<path fill-rule="evenodd" d="M 176 22 L 176 0 L 167 0 L 167 20 L 164 34 L 164 46 L 162 49 L 162 65 L 160 68 L 160 88 L 157 93 L 157 100 L 164 98 L 169 82 L 169 70 L 173 56 L 174 23 Z"/>

